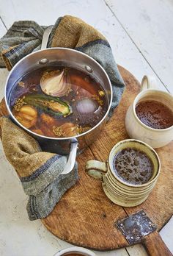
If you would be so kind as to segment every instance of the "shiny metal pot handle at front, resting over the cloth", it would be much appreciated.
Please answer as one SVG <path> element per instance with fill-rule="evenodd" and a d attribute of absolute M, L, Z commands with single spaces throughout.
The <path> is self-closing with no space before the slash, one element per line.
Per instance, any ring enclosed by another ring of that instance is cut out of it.
<path fill-rule="evenodd" d="M 78 150 L 78 141 L 76 139 L 73 139 L 73 141 L 71 141 L 70 154 L 69 154 L 67 163 L 61 174 L 69 174 L 70 171 L 73 170 L 75 166 L 77 150 Z"/>

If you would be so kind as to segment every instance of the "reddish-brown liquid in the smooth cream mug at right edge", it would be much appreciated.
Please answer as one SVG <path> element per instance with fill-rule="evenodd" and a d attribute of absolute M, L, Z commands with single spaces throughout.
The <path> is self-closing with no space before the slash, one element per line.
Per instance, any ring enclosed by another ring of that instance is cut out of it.
<path fill-rule="evenodd" d="M 173 125 L 173 113 L 169 107 L 157 101 L 144 101 L 136 105 L 140 121 L 153 129 L 166 129 Z"/>

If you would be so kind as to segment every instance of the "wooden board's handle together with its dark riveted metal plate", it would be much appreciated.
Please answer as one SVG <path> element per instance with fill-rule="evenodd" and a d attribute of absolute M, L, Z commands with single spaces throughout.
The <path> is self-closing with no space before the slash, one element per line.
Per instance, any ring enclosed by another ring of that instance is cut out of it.
<path fill-rule="evenodd" d="M 156 225 L 150 220 L 144 210 L 127 218 L 122 218 L 115 225 L 122 232 L 122 235 L 125 236 L 129 245 L 143 243 L 151 256 L 172 255 L 157 232 Z"/>

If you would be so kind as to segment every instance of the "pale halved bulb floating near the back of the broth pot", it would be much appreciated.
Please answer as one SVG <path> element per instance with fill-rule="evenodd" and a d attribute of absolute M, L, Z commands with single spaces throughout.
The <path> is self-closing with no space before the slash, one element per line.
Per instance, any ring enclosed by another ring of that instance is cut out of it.
<path fill-rule="evenodd" d="M 70 92 L 70 77 L 66 70 L 45 72 L 40 79 L 40 86 L 45 94 L 62 97 Z"/>

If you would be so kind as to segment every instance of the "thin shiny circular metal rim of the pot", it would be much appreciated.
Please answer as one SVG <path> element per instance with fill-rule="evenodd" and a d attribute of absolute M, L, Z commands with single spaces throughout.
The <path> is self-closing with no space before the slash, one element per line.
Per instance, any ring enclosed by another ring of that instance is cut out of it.
<path fill-rule="evenodd" d="M 73 136 L 73 137 L 65 137 L 65 138 L 54 138 L 54 137 L 48 137 L 48 136 L 44 136 L 44 135 L 39 135 L 37 134 L 36 132 L 32 132 L 30 129 L 27 129 L 26 127 L 24 127 L 16 118 L 15 116 L 12 114 L 11 110 L 10 110 L 10 107 L 9 107 L 9 104 L 7 102 L 7 83 L 10 79 L 10 76 L 12 74 L 12 72 L 15 70 L 15 68 L 18 66 L 19 63 L 21 63 L 23 60 L 27 59 L 27 57 L 29 56 L 32 56 L 34 54 L 37 54 L 37 52 L 40 52 L 40 51 L 52 51 L 52 50 L 67 50 L 67 51 L 75 51 L 77 54 L 81 54 L 83 55 L 84 57 L 87 57 L 89 58 L 90 60 L 92 60 L 92 62 L 95 62 L 96 65 L 99 66 L 99 68 L 103 71 L 103 73 L 106 75 L 106 78 L 108 79 L 108 83 L 110 85 L 110 91 L 111 91 L 111 97 L 110 97 L 110 102 L 109 102 L 109 105 L 108 105 L 108 109 L 105 113 L 105 115 L 103 116 L 103 118 L 95 125 L 95 127 L 92 127 L 92 129 L 89 129 L 87 132 L 84 132 L 80 135 L 76 135 L 76 136 Z M 21 60 L 18 61 L 18 63 L 16 63 L 13 67 L 12 67 L 12 70 L 10 71 L 10 73 L 8 74 L 8 77 L 7 77 L 7 80 L 6 80 L 6 83 L 5 83 L 5 88 L 4 88 L 4 99 L 5 99 L 5 104 L 6 104 L 6 107 L 7 107 L 7 110 L 8 112 L 10 113 L 10 115 L 12 116 L 12 118 L 15 120 L 15 122 L 18 124 L 19 127 L 22 127 L 26 132 L 32 134 L 32 135 L 36 135 L 37 137 L 39 138 L 42 138 L 42 139 L 48 139 L 48 140 L 54 140 L 54 141 L 65 141 L 65 140 L 72 140 L 74 138 L 79 138 L 83 135 L 87 135 L 89 132 L 92 132 L 92 130 L 94 130 L 95 128 L 99 127 L 99 125 L 105 120 L 105 118 L 107 117 L 110 109 L 111 109 L 111 103 L 112 103 L 112 99 L 113 99 L 113 90 L 112 90 L 112 87 L 111 87 L 111 80 L 109 79 L 108 77 L 108 74 L 106 73 L 106 71 L 104 70 L 104 68 L 100 65 L 100 63 L 97 63 L 97 61 L 95 59 L 93 59 L 92 57 L 90 57 L 89 55 L 87 54 L 84 54 L 83 52 L 81 51 L 77 51 L 75 49 L 69 49 L 69 48 L 65 48 L 65 47 L 52 47 L 52 48 L 46 48 L 46 49 L 41 49 L 41 50 L 38 50 L 38 51 L 34 51 L 30 54 L 27 54 L 25 57 L 23 57 Z"/>

